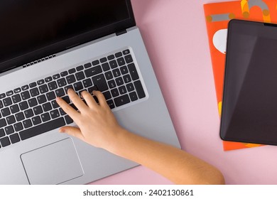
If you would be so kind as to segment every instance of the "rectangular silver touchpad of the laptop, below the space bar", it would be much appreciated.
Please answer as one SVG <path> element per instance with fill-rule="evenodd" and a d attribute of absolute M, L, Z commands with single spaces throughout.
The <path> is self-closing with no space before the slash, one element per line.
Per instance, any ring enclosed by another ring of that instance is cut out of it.
<path fill-rule="evenodd" d="M 60 184 L 84 174 L 72 139 L 21 154 L 30 184 Z"/>

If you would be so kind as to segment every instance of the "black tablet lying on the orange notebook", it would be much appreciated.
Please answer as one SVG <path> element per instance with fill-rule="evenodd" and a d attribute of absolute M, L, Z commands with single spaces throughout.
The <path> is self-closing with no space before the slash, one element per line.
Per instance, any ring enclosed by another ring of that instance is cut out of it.
<path fill-rule="evenodd" d="M 220 136 L 277 145 L 277 25 L 232 20 Z"/>

